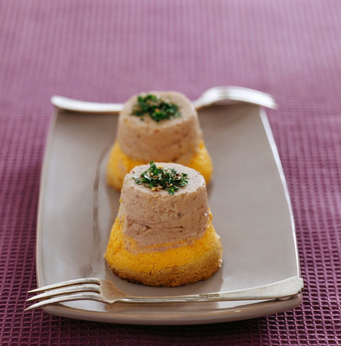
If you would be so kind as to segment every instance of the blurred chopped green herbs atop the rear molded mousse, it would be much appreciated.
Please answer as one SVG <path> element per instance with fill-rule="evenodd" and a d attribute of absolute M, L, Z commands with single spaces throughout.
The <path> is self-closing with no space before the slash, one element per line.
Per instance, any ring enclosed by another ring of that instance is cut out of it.
<path fill-rule="evenodd" d="M 141 120 L 144 119 L 145 115 L 149 115 L 156 122 L 164 119 L 174 119 L 180 116 L 179 107 L 161 96 L 153 94 L 139 96 L 137 103 L 133 107 L 131 114 L 140 117 Z"/>

